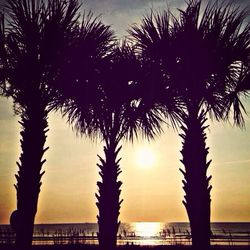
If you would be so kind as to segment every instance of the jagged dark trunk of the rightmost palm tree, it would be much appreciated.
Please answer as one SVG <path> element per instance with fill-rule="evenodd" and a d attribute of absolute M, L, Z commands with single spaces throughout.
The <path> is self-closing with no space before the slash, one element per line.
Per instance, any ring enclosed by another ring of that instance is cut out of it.
<path fill-rule="evenodd" d="M 183 204 L 186 207 L 190 221 L 192 246 L 194 250 L 210 249 L 210 191 L 211 186 L 207 177 L 207 169 L 211 161 L 207 162 L 208 148 L 204 126 L 205 113 L 202 111 L 189 112 L 184 118 L 182 127 L 183 148 L 181 154 L 185 171 L 181 170 L 185 180 L 183 189 L 186 193 Z"/>

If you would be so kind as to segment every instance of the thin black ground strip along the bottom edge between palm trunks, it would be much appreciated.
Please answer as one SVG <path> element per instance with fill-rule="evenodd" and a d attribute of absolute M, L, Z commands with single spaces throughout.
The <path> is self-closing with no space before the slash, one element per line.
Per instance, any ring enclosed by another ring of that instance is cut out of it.
<path fill-rule="evenodd" d="M 1 250 L 16 250 L 13 245 L 0 245 Z M 33 246 L 32 250 L 101 250 L 93 245 Z M 191 250 L 191 246 L 118 246 L 117 250 Z M 250 250 L 248 246 L 212 246 L 211 250 Z"/>

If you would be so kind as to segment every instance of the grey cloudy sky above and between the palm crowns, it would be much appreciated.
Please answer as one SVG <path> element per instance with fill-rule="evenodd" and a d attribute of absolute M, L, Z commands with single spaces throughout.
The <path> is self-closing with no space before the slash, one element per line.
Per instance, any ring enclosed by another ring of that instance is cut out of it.
<path fill-rule="evenodd" d="M 225 0 L 229 2 L 232 0 Z M 140 22 L 142 16 L 151 8 L 160 10 L 168 7 L 177 14 L 177 9 L 185 9 L 185 0 L 85 0 L 83 8 L 92 10 L 95 15 L 101 15 L 104 23 L 111 25 L 118 37 L 127 35 L 126 30 L 133 23 Z M 202 1 L 206 5 L 208 0 Z M 248 0 L 233 0 L 243 8 L 249 6 Z"/>

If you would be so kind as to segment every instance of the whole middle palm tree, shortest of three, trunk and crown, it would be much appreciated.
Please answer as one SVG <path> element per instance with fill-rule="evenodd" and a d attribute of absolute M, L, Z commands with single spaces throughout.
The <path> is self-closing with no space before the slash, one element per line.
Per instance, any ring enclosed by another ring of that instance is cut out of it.
<path fill-rule="evenodd" d="M 101 181 L 99 194 L 99 244 L 102 249 L 114 249 L 119 224 L 122 182 L 118 154 L 123 139 L 134 140 L 138 133 L 148 139 L 161 131 L 162 111 L 156 103 L 149 103 L 147 92 L 140 84 L 141 67 L 132 47 L 126 43 L 116 46 L 108 58 L 101 84 L 101 110 L 96 110 L 97 129 L 105 143 L 104 157 L 99 157 Z M 107 67 L 108 66 L 108 67 Z M 143 91 L 144 90 L 144 91 Z M 144 94 L 143 94 L 144 93 Z M 158 107 L 158 108 L 157 108 Z"/>

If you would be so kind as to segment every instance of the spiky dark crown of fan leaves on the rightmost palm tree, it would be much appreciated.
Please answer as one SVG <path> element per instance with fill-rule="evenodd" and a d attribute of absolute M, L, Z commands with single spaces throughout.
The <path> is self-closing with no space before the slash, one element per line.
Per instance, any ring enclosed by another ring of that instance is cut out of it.
<path fill-rule="evenodd" d="M 233 93 L 247 90 L 250 25 L 243 23 L 247 12 L 210 3 L 200 17 L 200 8 L 201 1 L 191 0 L 180 18 L 169 11 L 152 12 L 130 34 L 145 60 L 155 65 L 153 71 L 157 68 L 159 82 L 175 89 L 186 106 L 196 103 L 225 119 L 233 104 L 234 121 L 240 125 L 244 108 Z"/>

